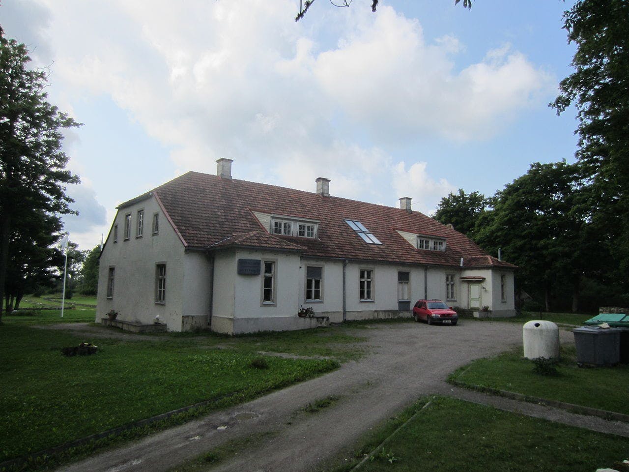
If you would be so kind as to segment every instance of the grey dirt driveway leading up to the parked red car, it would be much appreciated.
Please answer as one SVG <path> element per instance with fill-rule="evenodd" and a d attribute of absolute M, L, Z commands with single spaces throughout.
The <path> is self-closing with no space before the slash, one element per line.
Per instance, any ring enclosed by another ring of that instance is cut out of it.
<path fill-rule="evenodd" d="M 560 330 L 562 342 L 572 334 Z M 167 471 L 227 441 L 260 434 L 244 451 L 214 471 L 306 472 L 348 453 L 360 436 L 422 395 L 448 393 L 448 373 L 478 357 L 521 344 L 515 323 L 470 322 L 457 327 L 423 323 L 374 325 L 370 354 L 320 378 L 151 435 L 114 451 L 72 464 L 64 471 Z M 309 403 L 337 402 L 316 413 Z M 272 433 L 272 434 L 267 434 Z"/>

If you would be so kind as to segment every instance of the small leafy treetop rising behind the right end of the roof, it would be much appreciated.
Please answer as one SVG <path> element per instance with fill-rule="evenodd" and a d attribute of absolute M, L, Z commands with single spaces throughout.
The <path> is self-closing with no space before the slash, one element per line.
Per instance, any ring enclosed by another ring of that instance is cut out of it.
<path fill-rule="evenodd" d="M 472 232 L 476 222 L 486 211 L 487 205 L 489 199 L 483 194 L 478 192 L 465 194 L 463 189 L 459 189 L 457 193 L 450 192 L 441 199 L 433 218 L 444 225 L 449 223 L 455 230 L 473 239 Z"/>

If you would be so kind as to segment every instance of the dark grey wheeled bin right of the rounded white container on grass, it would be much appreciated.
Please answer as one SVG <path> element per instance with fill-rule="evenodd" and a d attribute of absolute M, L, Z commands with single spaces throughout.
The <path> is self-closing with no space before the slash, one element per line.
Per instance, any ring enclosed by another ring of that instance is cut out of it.
<path fill-rule="evenodd" d="M 613 366 L 620 362 L 620 329 L 583 326 L 572 330 L 577 364 Z"/>

